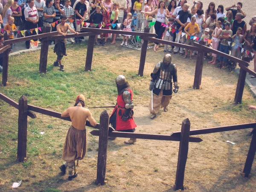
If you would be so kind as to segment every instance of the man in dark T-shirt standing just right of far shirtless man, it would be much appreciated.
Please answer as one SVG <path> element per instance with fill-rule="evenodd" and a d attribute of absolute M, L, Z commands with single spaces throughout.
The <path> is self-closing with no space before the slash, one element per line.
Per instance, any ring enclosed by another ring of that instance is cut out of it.
<path fill-rule="evenodd" d="M 84 17 L 87 12 L 87 7 L 84 4 L 84 0 L 80 0 L 78 3 L 76 3 L 75 12 L 76 12 L 76 16 L 75 16 L 76 31 L 80 32 L 80 29 L 82 27 L 82 22 L 84 22 Z M 76 43 L 80 43 L 82 40 L 79 37 L 75 37 L 75 41 Z"/>

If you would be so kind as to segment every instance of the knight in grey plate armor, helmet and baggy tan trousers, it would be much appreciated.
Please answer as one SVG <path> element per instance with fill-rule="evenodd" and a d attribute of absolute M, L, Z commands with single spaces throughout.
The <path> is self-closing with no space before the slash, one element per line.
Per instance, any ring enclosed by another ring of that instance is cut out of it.
<path fill-rule="evenodd" d="M 149 90 L 151 90 L 153 94 L 151 94 L 148 107 L 151 113 L 151 119 L 157 116 L 160 108 L 163 108 L 164 112 L 168 111 L 167 106 L 172 99 L 172 80 L 175 88 L 173 92 L 177 93 L 179 89 L 177 68 L 175 64 L 172 63 L 172 55 L 166 54 L 163 61 L 158 62 L 154 67 L 153 73 L 151 73 Z"/>

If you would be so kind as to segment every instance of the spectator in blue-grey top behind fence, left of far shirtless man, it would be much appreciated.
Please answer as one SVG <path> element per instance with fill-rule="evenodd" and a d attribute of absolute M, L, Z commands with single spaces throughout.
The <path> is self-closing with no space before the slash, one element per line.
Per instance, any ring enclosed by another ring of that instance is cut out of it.
<path fill-rule="evenodd" d="M 44 28 L 46 26 L 50 26 L 52 31 L 52 25 L 50 23 L 53 22 L 53 18 L 56 16 L 55 9 L 53 7 L 53 0 L 46 0 L 46 6 L 44 7 L 43 14 L 44 14 Z"/>

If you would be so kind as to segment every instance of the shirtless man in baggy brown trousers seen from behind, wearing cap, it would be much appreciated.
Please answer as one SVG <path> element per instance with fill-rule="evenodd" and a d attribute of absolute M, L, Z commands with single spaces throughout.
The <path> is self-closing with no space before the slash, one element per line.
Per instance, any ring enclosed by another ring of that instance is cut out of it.
<path fill-rule="evenodd" d="M 70 116 L 72 122 L 67 131 L 67 137 L 62 150 L 62 159 L 65 163 L 60 166 L 63 174 L 66 173 L 66 169 L 68 168 L 68 180 L 72 180 L 78 175 L 76 172 L 75 161 L 84 159 L 86 153 L 86 119 L 88 118 L 92 126 L 96 126 L 96 121 L 93 119 L 92 114 L 88 109 L 84 108 L 84 102 L 84 96 L 79 95 L 76 97 L 74 107 L 70 107 L 61 113 L 62 117 Z"/>

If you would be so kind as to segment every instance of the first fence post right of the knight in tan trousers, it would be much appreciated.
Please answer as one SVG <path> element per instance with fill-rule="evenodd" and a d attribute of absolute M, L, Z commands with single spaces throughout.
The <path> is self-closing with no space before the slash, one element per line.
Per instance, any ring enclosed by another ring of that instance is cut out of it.
<path fill-rule="evenodd" d="M 199 41 L 199 44 L 204 45 L 204 41 Z M 203 72 L 203 65 L 204 65 L 204 52 L 202 49 L 198 50 L 198 56 L 196 59 L 196 66 L 195 66 L 195 78 L 194 78 L 194 89 L 201 88 L 201 80 L 202 80 L 202 72 Z"/>

